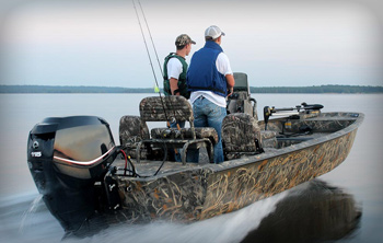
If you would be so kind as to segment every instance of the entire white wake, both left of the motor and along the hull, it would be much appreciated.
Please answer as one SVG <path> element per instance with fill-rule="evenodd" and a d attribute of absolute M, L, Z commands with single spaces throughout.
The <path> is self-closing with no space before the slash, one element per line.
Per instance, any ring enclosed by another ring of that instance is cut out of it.
<path fill-rule="evenodd" d="M 66 236 L 40 196 L 11 206 L 0 205 L 0 242 L 240 242 L 276 209 L 287 193 L 257 201 L 239 211 L 194 223 L 155 221 L 146 224 L 106 225 L 91 236 Z M 25 210 L 26 208 L 26 210 Z M 100 225 L 102 227 L 102 225 Z"/>

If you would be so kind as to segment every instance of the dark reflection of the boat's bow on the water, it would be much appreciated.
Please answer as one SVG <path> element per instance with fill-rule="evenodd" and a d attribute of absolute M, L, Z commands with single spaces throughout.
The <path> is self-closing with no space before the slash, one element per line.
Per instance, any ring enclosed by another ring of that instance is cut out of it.
<path fill-rule="evenodd" d="M 242 242 L 323 242 L 350 238 L 358 229 L 360 216 L 361 208 L 356 206 L 352 195 L 314 180 L 291 190 Z"/>

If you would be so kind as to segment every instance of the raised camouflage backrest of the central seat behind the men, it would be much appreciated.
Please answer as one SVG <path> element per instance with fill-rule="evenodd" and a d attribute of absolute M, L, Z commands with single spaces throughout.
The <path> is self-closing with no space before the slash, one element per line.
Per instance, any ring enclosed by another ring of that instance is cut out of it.
<path fill-rule="evenodd" d="M 140 102 L 140 116 L 142 121 L 172 121 L 187 120 L 193 124 L 193 108 L 183 96 L 152 96 Z"/>

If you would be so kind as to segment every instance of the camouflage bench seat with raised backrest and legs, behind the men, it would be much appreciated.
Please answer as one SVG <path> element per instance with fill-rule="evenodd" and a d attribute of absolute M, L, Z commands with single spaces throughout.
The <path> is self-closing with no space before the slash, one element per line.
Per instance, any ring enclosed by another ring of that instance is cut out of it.
<path fill-rule="evenodd" d="M 171 121 L 185 120 L 189 123 L 189 128 L 183 128 L 179 135 L 170 128 L 152 129 L 152 137 L 143 139 L 137 144 L 137 154 L 140 154 L 142 146 L 149 148 L 182 149 L 181 159 L 186 163 L 186 153 L 188 149 L 199 149 L 205 147 L 208 151 L 209 160 L 213 159 L 213 142 L 218 140 L 218 135 L 213 128 L 195 128 L 194 116 L 190 103 L 183 96 L 152 96 L 146 97 L 140 102 L 141 123 L 147 121 Z M 170 132 L 169 132 L 170 131 Z M 172 135 L 173 132 L 173 135 Z M 164 136 L 169 134 L 170 136 Z M 197 136 L 198 134 L 198 136 Z M 139 162 L 139 158 L 137 158 Z"/>

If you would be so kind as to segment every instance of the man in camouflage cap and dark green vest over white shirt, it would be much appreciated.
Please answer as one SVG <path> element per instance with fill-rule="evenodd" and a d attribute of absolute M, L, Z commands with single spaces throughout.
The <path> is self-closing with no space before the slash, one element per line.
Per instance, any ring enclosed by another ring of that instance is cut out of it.
<path fill-rule="evenodd" d="M 190 96 L 190 92 L 187 90 L 186 84 L 186 72 L 188 67 L 186 63 L 186 56 L 188 56 L 192 50 L 192 44 L 196 43 L 192 40 L 188 35 L 182 34 L 175 39 L 176 51 L 171 53 L 165 57 L 163 65 L 163 86 L 166 96 L 182 95 L 186 99 L 189 99 Z M 185 127 L 185 120 L 171 123 L 170 127 L 177 128 L 177 124 L 179 128 Z M 179 153 L 175 154 L 175 160 L 181 161 Z"/>

